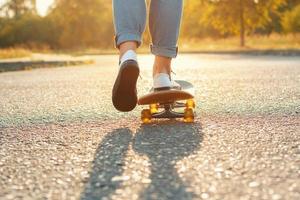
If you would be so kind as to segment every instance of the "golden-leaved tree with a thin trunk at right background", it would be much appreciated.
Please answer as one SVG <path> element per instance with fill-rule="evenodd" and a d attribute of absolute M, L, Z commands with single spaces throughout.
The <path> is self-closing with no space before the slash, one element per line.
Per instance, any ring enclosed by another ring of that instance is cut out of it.
<path fill-rule="evenodd" d="M 222 34 L 240 35 L 240 45 L 245 45 L 245 35 L 271 20 L 271 13 L 286 0 L 203 0 L 206 12 L 200 18 Z"/>

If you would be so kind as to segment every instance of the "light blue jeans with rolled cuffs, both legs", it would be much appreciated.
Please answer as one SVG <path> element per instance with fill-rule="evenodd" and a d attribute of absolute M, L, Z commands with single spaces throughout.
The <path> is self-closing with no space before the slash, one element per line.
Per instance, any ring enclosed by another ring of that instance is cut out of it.
<path fill-rule="evenodd" d="M 175 58 L 183 0 L 151 0 L 149 28 L 154 55 Z M 126 41 L 142 43 L 146 25 L 145 0 L 113 0 L 116 46 Z"/>

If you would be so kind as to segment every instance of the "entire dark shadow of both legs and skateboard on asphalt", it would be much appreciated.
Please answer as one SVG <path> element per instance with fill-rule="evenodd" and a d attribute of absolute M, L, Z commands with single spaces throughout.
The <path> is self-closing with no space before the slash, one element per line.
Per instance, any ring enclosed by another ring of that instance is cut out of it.
<path fill-rule="evenodd" d="M 124 160 L 130 143 L 135 152 L 148 156 L 151 162 L 151 183 L 139 199 L 193 199 L 187 184 L 175 169 L 176 162 L 200 148 L 200 124 L 166 122 L 143 125 L 134 134 L 128 128 L 108 133 L 99 145 L 90 178 L 81 199 L 111 199 L 122 182 L 113 177 L 123 173 Z"/>

